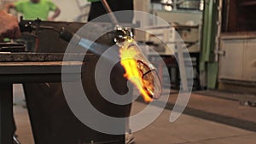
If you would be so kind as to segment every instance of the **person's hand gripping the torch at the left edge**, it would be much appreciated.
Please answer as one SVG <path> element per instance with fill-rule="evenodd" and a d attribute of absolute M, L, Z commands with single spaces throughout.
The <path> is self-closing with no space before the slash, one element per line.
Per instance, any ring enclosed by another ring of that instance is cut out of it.
<path fill-rule="evenodd" d="M 3 41 L 3 37 L 20 37 L 20 27 L 15 16 L 0 10 L 0 41 Z"/>

